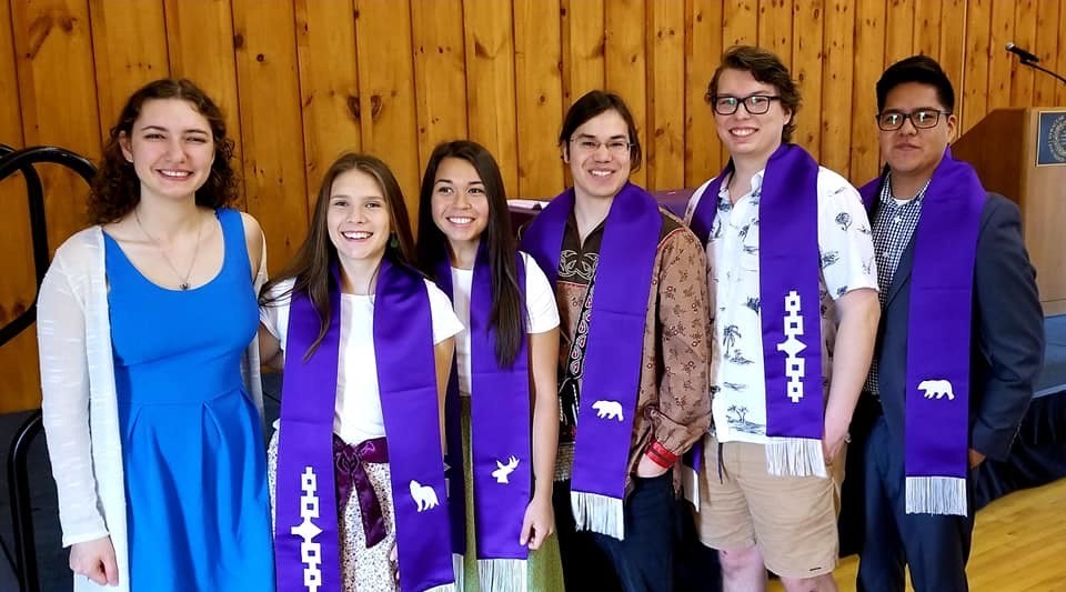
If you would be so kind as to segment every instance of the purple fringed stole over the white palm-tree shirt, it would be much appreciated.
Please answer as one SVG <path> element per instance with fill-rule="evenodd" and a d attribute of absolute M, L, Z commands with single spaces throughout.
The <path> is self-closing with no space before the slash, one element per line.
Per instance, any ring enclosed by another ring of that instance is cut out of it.
<path fill-rule="evenodd" d="M 692 214 L 703 244 L 732 173 L 730 160 Z M 798 146 L 781 144 L 770 157 L 758 205 L 758 289 L 771 474 L 826 476 L 817 188 L 818 163 Z"/>

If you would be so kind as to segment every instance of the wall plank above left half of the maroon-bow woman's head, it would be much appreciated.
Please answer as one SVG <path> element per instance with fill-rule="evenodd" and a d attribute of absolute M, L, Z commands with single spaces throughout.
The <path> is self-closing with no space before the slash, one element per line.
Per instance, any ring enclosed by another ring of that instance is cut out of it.
<path fill-rule="evenodd" d="M 296 58 L 303 112 L 309 212 L 336 157 L 362 149 L 355 16 L 350 1 L 295 0 Z M 288 187 L 290 199 L 296 187 Z M 309 217 L 310 219 L 310 217 Z"/>

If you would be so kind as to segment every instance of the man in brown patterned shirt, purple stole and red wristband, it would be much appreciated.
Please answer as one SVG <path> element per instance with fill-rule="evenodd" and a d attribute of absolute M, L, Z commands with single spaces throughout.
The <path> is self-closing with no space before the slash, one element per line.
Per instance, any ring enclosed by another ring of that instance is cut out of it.
<path fill-rule="evenodd" d="M 560 429 L 554 505 L 569 590 L 673 586 L 676 461 L 711 422 L 706 260 L 628 181 L 641 164 L 622 99 L 591 91 L 559 146 L 574 187 L 523 233 L 555 288 Z"/>

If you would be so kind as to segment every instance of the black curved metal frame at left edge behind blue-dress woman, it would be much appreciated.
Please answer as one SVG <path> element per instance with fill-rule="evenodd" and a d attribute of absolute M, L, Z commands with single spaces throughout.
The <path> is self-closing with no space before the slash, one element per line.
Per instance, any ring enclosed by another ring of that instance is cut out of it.
<path fill-rule="evenodd" d="M 44 192 L 41 178 L 34 169 L 39 163 L 60 164 L 73 170 L 86 182 L 95 174 L 92 162 L 69 150 L 54 147 L 36 147 L 14 150 L 0 144 L 0 181 L 22 172 L 29 200 L 30 230 L 33 240 L 33 268 L 37 272 L 37 287 L 40 288 L 49 265 L 48 225 L 44 221 Z M 33 303 L 14 320 L 0 328 L 0 347 L 29 329 L 37 320 L 37 295 Z M 27 470 L 27 455 L 30 443 L 41 432 L 41 411 L 34 411 L 16 432 L 8 453 L 8 488 L 11 495 L 11 525 L 14 534 L 14 572 L 19 578 L 19 590 L 39 592 L 40 578 L 37 569 L 37 553 L 33 541 L 33 515 L 30 501 L 30 483 Z"/>

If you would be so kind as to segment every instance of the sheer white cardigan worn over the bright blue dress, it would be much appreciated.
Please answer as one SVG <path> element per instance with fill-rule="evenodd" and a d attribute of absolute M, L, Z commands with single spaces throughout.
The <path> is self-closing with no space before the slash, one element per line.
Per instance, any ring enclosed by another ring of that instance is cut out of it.
<path fill-rule="evenodd" d="M 266 278 L 265 262 L 264 245 L 257 294 Z M 118 564 L 118 588 L 74 575 L 74 592 L 128 592 L 125 488 L 100 227 L 78 232 L 56 251 L 38 297 L 37 339 L 63 546 L 110 535 Z M 262 419 L 259 368 L 253 340 L 241 373 Z"/>

